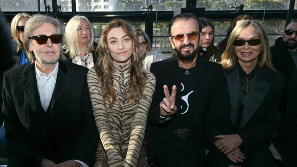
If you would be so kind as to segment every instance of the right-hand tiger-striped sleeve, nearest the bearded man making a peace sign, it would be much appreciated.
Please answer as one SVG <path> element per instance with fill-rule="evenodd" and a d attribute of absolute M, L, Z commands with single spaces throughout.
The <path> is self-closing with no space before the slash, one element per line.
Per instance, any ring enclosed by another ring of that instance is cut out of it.
<path fill-rule="evenodd" d="M 136 166 L 139 153 L 143 144 L 146 121 L 149 113 L 149 107 L 156 86 L 156 78 L 152 73 L 147 73 L 148 79 L 144 89 L 144 97 L 141 97 L 138 102 L 137 111 L 134 114 L 131 124 L 131 134 L 126 159 L 122 166 Z"/>

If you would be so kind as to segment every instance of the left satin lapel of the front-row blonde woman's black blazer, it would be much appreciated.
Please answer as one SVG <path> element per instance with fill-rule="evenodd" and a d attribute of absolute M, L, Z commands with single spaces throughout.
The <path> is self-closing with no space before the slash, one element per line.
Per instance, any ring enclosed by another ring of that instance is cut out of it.
<path fill-rule="evenodd" d="M 239 70 L 238 66 L 230 71 L 224 72 L 230 95 L 231 112 L 230 117 L 236 129 L 239 125 Z"/>

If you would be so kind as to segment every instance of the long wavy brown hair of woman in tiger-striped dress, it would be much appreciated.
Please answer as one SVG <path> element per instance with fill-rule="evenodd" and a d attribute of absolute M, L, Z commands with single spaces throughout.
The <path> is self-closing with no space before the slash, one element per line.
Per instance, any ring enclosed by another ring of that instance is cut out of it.
<path fill-rule="evenodd" d="M 122 19 L 114 19 L 107 24 L 102 32 L 99 44 L 96 49 L 96 54 L 98 55 L 98 63 L 95 65 L 95 70 L 99 82 L 103 89 L 103 99 L 111 97 L 112 101 L 109 107 L 112 107 L 116 94 L 113 90 L 113 73 L 115 71 L 114 62 L 112 57 L 108 53 L 107 46 L 107 34 L 113 28 L 121 27 L 123 31 L 128 35 L 132 41 L 132 55 L 131 55 L 131 71 L 130 80 L 128 81 L 128 90 L 126 94 L 126 99 L 128 103 L 137 102 L 140 97 L 144 97 L 143 91 L 145 88 L 147 75 L 143 68 L 143 59 L 141 58 L 141 47 L 138 41 L 138 37 L 135 34 L 134 29 L 131 24 Z"/>

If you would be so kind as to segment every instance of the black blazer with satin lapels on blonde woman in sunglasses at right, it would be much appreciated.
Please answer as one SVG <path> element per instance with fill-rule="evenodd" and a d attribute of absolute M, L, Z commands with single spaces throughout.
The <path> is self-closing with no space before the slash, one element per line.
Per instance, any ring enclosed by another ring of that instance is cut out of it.
<path fill-rule="evenodd" d="M 243 114 L 239 120 L 239 70 L 238 66 L 225 71 L 231 102 L 231 120 L 243 140 L 244 152 L 267 142 L 280 127 L 278 102 L 285 78 L 274 70 L 256 67 Z"/>

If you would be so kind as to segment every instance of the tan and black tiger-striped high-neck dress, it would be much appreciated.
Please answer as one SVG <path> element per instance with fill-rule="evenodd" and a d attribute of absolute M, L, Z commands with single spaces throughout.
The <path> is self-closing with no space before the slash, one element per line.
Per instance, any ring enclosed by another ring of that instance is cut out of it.
<path fill-rule="evenodd" d="M 156 85 L 155 76 L 147 73 L 147 82 L 139 102 L 128 104 L 126 92 L 130 79 L 131 63 L 116 65 L 113 89 L 116 93 L 114 105 L 109 108 L 111 99 L 103 103 L 103 91 L 97 79 L 96 71 L 91 68 L 87 75 L 93 113 L 100 134 L 100 141 L 95 155 L 95 167 L 101 167 L 103 153 L 107 153 L 110 167 L 137 165 L 138 156 L 147 157 L 144 133 L 149 107 Z M 122 158 L 124 157 L 124 158 Z"/>

